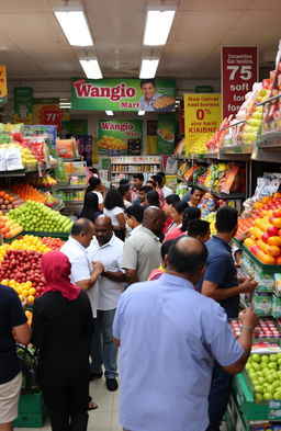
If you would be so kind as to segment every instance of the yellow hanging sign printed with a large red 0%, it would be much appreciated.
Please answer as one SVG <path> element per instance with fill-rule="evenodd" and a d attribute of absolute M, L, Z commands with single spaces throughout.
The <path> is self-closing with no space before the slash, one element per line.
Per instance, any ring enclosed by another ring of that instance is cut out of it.
<path fill-rule="evenodd" d="M 184 94 L 186 156 L 201 152 L 202 145 L 217 131 L 221 122 L 221 94 Z"/>

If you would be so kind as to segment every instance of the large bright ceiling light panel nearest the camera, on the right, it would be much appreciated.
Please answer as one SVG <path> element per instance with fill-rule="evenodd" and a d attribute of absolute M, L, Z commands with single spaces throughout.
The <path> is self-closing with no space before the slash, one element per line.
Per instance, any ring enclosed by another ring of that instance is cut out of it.
<path fill-rule="evenodd" d="M 169 36 L 176 10 L 148 10 L 144 45 L 165 45 Z"/>

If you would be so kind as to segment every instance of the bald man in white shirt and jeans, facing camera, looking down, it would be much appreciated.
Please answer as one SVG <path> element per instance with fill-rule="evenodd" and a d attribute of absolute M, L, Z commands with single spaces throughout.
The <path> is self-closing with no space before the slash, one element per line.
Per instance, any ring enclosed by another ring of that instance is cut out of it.
<path fill-rule="evenodd" d="M 121 266 L 124 242 L 115 237 L 111 218 L 105 215 L 95 218 L 94 232 L 95 238 L 87 250 L 88 258 L 101 261 L 104 271 L 98 280 L 98 314 L 91 351 L 91 374 L 93 378 L 100 378 L 104 364 L 106 387 L 109 390 L 116 390 L 117 349 L 113 342 L 112 326 L 119 297 L 125 286 L 125 274 Z"/>

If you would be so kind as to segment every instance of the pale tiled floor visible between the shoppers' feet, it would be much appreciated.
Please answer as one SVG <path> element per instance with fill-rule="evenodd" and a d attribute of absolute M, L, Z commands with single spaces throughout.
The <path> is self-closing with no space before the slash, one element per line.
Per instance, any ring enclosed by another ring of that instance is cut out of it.
<path fill-rule="evenodd" d="M 104 378 L 91 382 L 90 394 L 98 404 L 97 410 L 89 412 L 88 431 L 121 431 L 119 424 L 119 392 L 110 393 Z M 44 428 L 15 428 L 16 431 L 50 431 L 49 423 Z"/>

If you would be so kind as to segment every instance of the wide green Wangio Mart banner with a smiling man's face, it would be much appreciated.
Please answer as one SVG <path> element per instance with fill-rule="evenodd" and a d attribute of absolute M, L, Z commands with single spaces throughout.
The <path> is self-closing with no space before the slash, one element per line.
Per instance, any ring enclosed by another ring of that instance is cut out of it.
<path fill-rule="evenodd" d="M 138 79 L 81 79 L 71 82 L 75 111 L 175 111 L 176 81 Z"/>

